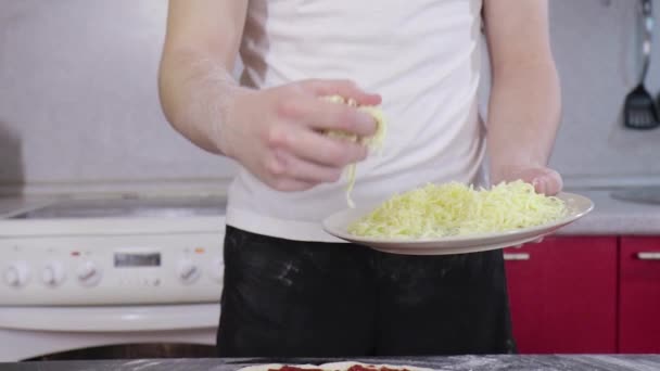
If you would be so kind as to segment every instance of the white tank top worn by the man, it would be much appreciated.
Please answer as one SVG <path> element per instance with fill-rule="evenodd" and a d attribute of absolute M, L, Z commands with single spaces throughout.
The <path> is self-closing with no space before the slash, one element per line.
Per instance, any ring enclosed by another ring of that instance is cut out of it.
<path fill-rule="evenodd" d="M 357 207 L 427 182 L 475 182 L 484 154 L 478 114 L 481 0 L 251 0 L 241 81 L 256 88 L 348 78 L 382 95 L 382 153 L 357 165 Z M 347 179 L 275 191 L 244 169 L 227 223 L 300 241 L 339 242 L 321 220 L 347 207 Z"/>

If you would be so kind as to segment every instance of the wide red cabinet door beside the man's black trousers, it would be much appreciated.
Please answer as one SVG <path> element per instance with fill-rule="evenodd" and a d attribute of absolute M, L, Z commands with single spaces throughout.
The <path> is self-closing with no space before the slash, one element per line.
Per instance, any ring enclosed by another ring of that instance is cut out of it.
<path fill-rule="evenodd" d="M 520 353 L 615 353 L 615 236 L 547 238 L 505 259 Z"/>

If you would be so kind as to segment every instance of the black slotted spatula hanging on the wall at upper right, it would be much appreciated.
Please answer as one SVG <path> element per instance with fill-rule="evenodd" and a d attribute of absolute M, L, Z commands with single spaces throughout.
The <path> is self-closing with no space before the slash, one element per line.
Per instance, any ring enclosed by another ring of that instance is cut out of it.
<path fill-rule="evenodd" d="M 625 98 L 624 124 L 632 129 L 652 129 L 660 126 L 658 108 L 651 94 L 646 90 L 644 81 L 648 73 L 651 59 L 651 40 L 653 29 L 653 14 L 651 0 L 642 0 L 642 15 L 644 20 L 644 40 L 642 43 L 642 76 L 639 84 Z"/>

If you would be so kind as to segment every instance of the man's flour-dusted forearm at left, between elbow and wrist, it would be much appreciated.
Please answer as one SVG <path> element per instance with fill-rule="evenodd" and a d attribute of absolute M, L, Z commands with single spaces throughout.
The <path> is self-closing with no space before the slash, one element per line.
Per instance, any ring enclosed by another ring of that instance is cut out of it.
<path fill-rule="evenodd" d="M 172 53 L 162 61 L 158 85 L 170 125 L 200 148 L 226 154 L 220 128 L 243 88 L 221 62 L 201 53 Z"/>

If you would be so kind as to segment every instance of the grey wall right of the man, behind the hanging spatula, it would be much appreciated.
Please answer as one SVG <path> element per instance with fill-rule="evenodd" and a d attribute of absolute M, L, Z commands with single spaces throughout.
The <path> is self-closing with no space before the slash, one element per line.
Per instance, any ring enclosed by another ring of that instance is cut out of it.
<path fill-rule="evenodd" d="M 553 44 L 561 74 L 563 124 L 553 165 L 576 178 L 660 176 L 660 129 L 623 128 L 625 95 L 640 74 L 637 0 L 550 0 Z M 660 3 L 655 14 L 660 17 Z M 656 27 L 657 35 L 660 28 Z M 647 87 L 660 92 L 660 38 Z M 611 182 L 615 182 L 611 179 Z M 600 182 L 596 182 L 600 183 Z M 605 182 L 607 183 L 607 181 Z"/>

